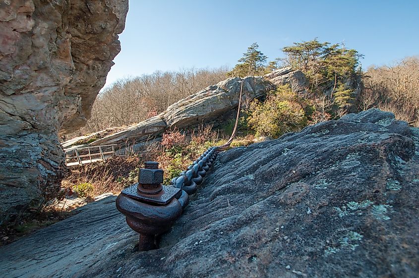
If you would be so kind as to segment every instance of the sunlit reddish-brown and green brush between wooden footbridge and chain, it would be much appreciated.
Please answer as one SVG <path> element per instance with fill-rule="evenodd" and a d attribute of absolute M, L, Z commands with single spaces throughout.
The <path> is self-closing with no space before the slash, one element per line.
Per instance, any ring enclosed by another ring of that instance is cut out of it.
<path fill-rule="evenodd" d="M 239 138 L 232 147 L 253 143 L 253 136 Z M 218 138 L 211 125 L 201 125 L 195 131 L 167 131 L 160 142 L 150 142 L 141 150 L 128 151 L 105 162 L 90 163 L 71 168 L 61 186 L 78 195 L 97 196 L 107 192 L 118 194 L 138 180 L 138 170 L 145 161 L 157 161 L 164 170 L 164 184 L 179 175 L 208 147 L 222 145 L 226 139 Z"/>

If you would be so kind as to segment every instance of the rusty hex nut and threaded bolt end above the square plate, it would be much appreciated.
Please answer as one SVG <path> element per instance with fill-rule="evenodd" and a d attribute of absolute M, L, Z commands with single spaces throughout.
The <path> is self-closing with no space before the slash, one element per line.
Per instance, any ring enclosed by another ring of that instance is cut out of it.
<path fill-rule="evenodd" d="M 147 161 L 138 173 L 138 190 L 145 194 L 157 194 L 162 190 L 163 169 L 159 163 Z"/>

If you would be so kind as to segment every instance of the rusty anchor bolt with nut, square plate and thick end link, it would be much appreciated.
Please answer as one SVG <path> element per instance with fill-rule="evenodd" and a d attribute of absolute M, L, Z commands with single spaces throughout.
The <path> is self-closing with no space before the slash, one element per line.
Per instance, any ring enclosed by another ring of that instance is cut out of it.
<path fill-rule="evenodd" d="M 129 227 L 140 234 L 140 251 L 158 247 L 156 237 L 170 229 L 189 199 L 181 188 L 162 185 L 163 169 L 158 165 L 146 162 L 138 182 L 122 190 L 116 201 Z"/>

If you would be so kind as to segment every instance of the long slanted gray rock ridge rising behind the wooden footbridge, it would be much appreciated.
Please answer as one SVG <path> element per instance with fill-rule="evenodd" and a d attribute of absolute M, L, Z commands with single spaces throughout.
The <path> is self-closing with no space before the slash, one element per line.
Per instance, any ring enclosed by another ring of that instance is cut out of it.
<path fill-rule="evenodd" d="M 247 76 L 243 79 L 242 99 L 258 98 L 274 86 L 261 77 Z M 131 125 L 117 133 L 105 136 L 85 146 L 119 144 L 127 142 L 141 145 L 152 137 L 158 137 L 167 129 L 193 128 L 201 123 L 208 123 L 236 109 L 239 105 L 241 79 L 229 78 L 216 85 L 209 86 L 179 102 L 169 106 L 166 111 L 138 124 Z M 78 137 L 89 139 L 95 134 Z M 71 139 L 62 144 L 64 148 L 75 146 L 77 140 Z"/>

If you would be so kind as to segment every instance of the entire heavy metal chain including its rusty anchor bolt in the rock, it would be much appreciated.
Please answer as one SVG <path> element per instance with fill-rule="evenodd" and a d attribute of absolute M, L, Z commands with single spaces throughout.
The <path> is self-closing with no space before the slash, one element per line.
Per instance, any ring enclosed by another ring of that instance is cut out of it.
<path fill-rule="evenodd" d="M 197 190 L 203 178 L 214 164 L 217 155 L 226 150 L 236 136 L 241 107 L 243 80 L 241 79 L 239 107 L 236 124 L 230 139 L 223 145 L 208 148 L 186 170 L 162 185 L 163 170 L 157 162 L 146 162 L 138 182 L 122 190 L 116 200 L 117 209 L 126 217 L 126 223 L 139 233 L 138 250 L 148 251 L 158 247 L 157 235 L 170 229 L 173 222 L 188 204 L 189 195 Z"/>

